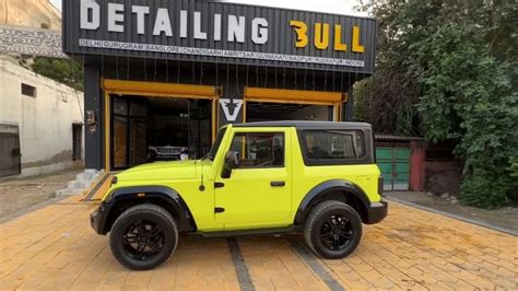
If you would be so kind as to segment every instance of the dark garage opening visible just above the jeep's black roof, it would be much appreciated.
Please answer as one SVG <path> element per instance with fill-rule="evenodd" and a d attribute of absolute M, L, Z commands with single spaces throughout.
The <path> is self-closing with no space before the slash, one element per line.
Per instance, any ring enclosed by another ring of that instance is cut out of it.
<path fill-rule="evenodd" d="M 334 106 L 247 102 L 247 123 L 280 120 L 333 121 Z"/>

